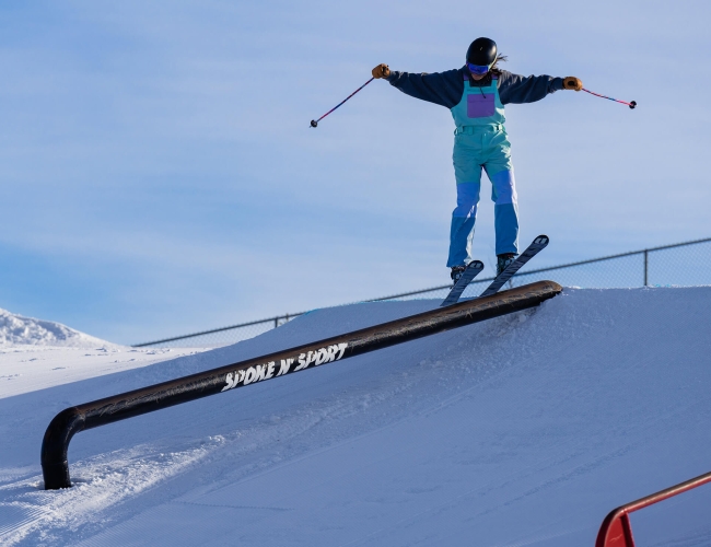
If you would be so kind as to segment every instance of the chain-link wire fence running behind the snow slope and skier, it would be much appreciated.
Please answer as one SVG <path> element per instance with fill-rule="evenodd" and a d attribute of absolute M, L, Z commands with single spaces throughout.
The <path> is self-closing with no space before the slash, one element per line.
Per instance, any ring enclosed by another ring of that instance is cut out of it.
<path fill-rule="evenodd" d="M 564 287 L 611 289 L 645 286 L 688 287 L 711 284 L 711 276 L 709 275 L 711 269 L 699 267 L 700 264 L 711 265 L 711 237 L 528 271 L 524 269 L 509 284 L 511 287 L 517 287 L 544 280 L 551 277 L 549 272 L 552 271 L 555 271 L 555 281 Z M 477 296 L 492 279 L 485 278 L 475 280 L 464 291 L 462 298 Z M 444 299 L 450 288 L 451 286 L 444 284 L 419 291 L 372 299 L 366 302 Z M 254 338 L 267 330 L 288 323 L 294 317 L 303 315 L 303 313 L 305 312 L 278 315 L 267 319 L 252 321 L 151 342 L 136 344 L 133 347 L 217 348 Z"/>

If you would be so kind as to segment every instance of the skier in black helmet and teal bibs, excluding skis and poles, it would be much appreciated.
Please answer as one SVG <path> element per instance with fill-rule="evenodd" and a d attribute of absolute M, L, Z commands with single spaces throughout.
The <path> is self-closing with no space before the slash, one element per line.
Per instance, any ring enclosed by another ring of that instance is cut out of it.
<path fill-rule="evenodd" d="M 503 106 L 533 103 L 558 90 L 583 89 L 575 77 L 523 77 L 498 67 L 505 61 L 489 38 L 475 39 L 461 69 L 418 74 L 391 70 L 385 63 L 373 69 L 401 92 L 450 108 L 454 130 L 454 176 L 457 206 L 452 212 L 447 267 L 456 282 L 473 260 L 471 238 L 477 217 L 481 168 L 491 181 L 497 234 L 497 275 L 518 254 L 518 206 L 511 163 L 511 143 L 503 126 Z"/>

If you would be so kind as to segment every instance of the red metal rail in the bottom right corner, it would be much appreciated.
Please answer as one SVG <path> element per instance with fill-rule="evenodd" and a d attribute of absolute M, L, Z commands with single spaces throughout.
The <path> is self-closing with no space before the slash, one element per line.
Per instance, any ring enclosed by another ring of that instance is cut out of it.
<path fill-rule="evenodd" d="M 653 493 L 646 498 L 641 498 L 637 501 L 614 509 L 605 517 L 599 527 L 595 547 L 634 547 L 632 526 L 628 516 L 630 513 L 653 505 L 654 503 L 666 500 L 667 498 L 673 498 L 674 496 L 691 490 L 698 486 L 706 485 L 707 482 L 711 482 L 711 473 L 707 473 L 706 475 L 673 486 L 672 488 L 667 488 L 661 492 Z"/>

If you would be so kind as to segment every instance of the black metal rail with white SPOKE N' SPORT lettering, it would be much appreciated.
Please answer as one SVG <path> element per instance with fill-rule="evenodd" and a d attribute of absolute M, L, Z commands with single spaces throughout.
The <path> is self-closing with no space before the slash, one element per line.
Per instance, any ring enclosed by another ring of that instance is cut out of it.
<path fill-rule="evenodd" d="M 534 307 L 561 291 L 562 287 L 553 281 L 538 281 L 491 296 L 436 307 L 403 319 L 66 408 L 51 420 L 42 443 L 45 489 L 71 487 L 67 459 L 69 442 L 75 433 L 85 429 Z"/>

